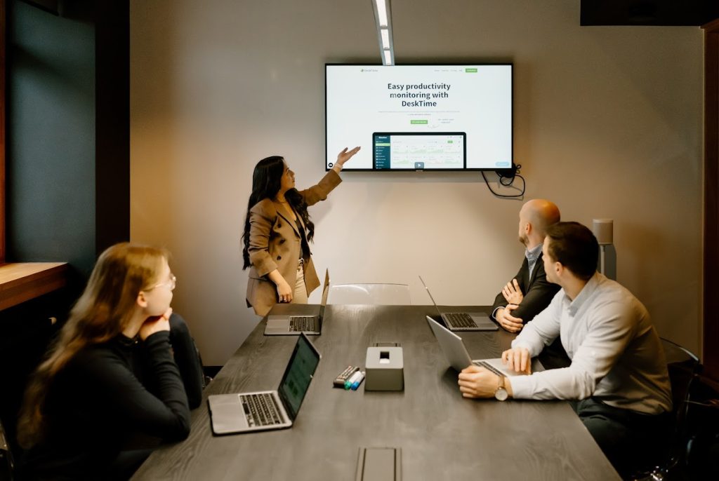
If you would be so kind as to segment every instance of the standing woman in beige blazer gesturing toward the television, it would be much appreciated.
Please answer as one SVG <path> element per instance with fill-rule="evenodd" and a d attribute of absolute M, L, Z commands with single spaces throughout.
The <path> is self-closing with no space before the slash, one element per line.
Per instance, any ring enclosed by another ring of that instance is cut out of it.
<path fill-rule="evenodd" d="M 306 303 L 319 286 L 309 248 L 314 224 L 307 207 L 325 200 L 342 182 L 339 171 L 357 151 L 359 147 L 342 150 L 317 185 L 300 191 L 283 157 L 257 162 L 242 235 L 242 268 L 249 267 L 247 306 L 260 316 L 277 302 Z"/>

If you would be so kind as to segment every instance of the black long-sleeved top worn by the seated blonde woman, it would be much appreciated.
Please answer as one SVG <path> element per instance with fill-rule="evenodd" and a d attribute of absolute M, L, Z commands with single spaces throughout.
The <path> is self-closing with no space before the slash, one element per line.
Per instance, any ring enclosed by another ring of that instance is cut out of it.
<path fill-rule="evenodd" d="M 133 373 L 138 349 L 150 363 L 144 376 L 152 378 L 154 393 Z M 169 332 L 155 332 L 144 342 L 119 335 L 81 350 L 52 381 L 44 412 L 47 436 L 27 456 L 29 478 L 103 479 L 138 435 L 185 439 L 190 409 Z"/>

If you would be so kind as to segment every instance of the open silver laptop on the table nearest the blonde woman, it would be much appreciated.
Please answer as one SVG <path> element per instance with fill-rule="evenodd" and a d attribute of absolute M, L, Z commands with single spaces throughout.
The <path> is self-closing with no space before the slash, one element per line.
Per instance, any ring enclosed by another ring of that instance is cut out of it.
<path fill-rule="evenodd" d="M 308 337 L 297 338 L 277 391 L 208 396 L 214 434 L 267 431 L 292 426 L 321 356 Z"/>

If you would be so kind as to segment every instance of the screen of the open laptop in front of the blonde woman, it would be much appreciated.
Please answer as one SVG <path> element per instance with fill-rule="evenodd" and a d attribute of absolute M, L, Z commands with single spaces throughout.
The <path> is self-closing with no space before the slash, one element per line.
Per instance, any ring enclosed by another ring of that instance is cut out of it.
<path fill-rule="evenodd" d="M 304 334 L 300 335 L 278 388 L 278 393 L 290 419 L 296 418 L 300 406 L 302 406 L 302 401 L 310 387 L 312 375 L 319 364 L 319 358 L 319 352 L 307 337 Z"/>

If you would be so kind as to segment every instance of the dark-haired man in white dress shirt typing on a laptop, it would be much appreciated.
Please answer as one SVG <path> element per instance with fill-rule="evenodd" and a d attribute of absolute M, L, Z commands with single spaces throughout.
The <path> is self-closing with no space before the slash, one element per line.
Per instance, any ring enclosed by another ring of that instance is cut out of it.
<path fill-rule="evenodd" d="M 546 278 L 562 289 L 502 359 L 529 373 L 531 358 L 561 334 L 571 365 L 513 378 L 472 365 L 459 374 L 460 390 L 467 398 L 579 401 L 580 419 L 626 475 L 669 434 L 672 394 L 659 336 L 644 305 L 596 271 L 597 239 L 584 225 L 551 225 L 542 251 Z"/>

